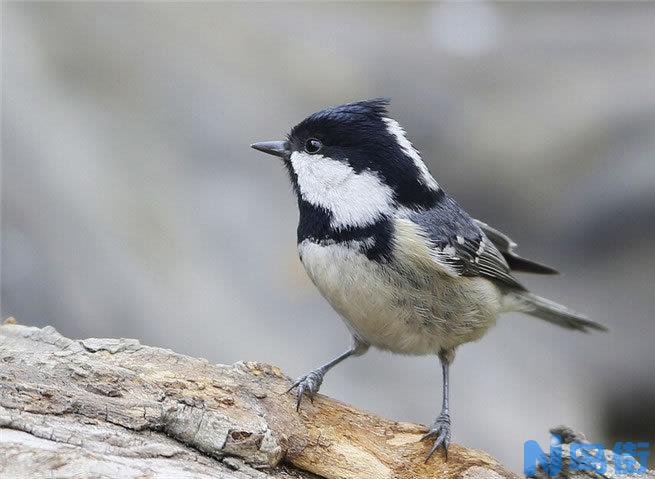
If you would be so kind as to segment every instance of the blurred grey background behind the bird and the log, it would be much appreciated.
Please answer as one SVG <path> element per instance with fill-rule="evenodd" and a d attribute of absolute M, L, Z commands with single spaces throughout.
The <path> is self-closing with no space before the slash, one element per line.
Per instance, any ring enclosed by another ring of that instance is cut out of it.
<path fill-rule="evenodd" d="M 440 183 L 564 273 L 525 283 L 611 328 L 502 318 L 459 351 L 454 440 L 517 471 L 559 423 L 655 441 L 655 3 L 2 8 L 3 317 L 316 367 L 348 334 L 248 145 L 390 96 Z M 430 424 L 440 388 L 435 358 L 373 351 L 322 392 Z"/>

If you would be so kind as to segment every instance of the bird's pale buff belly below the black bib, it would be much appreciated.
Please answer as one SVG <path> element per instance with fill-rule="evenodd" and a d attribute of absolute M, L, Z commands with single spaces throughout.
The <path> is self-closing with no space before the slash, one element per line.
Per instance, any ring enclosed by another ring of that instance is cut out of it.
<path fill-rule="evenodd" d="M 382 265 L 340 244 L 304 241 L 298 249 L 307 274 L 353 335 L 380 349 L 453 349 L 481 338 L 501 310 L 500 292 L 483 278 Z"/>

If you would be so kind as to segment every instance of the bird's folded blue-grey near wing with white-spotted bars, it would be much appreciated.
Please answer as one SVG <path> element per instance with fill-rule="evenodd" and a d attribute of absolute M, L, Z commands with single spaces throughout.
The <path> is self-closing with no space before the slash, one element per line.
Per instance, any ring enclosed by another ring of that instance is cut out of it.
<path fill-rule="evenodd" d="M 525 290 L 512 276 L 502 253 L 452 198 L 444 198 L 430 210 L 414 212 L 409 219 L 425 232 L 435 260 L 449 271 L 460 276 L 482 276 Z"/>

